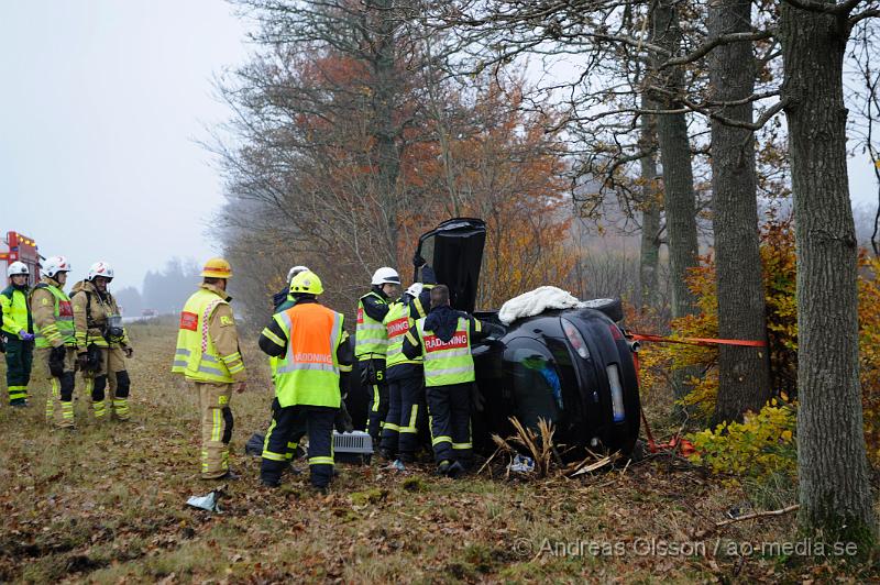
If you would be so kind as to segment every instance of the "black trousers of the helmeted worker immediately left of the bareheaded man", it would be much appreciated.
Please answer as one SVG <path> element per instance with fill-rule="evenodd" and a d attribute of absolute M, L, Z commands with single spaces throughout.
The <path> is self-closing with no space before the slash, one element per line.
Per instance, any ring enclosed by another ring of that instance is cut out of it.
<path fill-rule="evenodd" d="M 382 449 L 396 453 L 405 463 L 414 461 L 427 418 L 424 376 L 388 380 L 388 417 L 382 429 Z"/>

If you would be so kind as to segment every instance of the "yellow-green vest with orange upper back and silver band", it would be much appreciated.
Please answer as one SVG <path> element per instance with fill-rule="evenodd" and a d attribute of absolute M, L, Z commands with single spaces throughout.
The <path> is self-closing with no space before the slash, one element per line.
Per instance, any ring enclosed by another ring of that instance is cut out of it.
<path fill-rule="evenodd" d="M 287 353 L 275 369 L 278 404 L 282 408 L 339 408 L 337 349 L 345 340 L 343 316 L 317 302 L 306 302 L 275 313 L 273 319 L 287 338 Z"/>

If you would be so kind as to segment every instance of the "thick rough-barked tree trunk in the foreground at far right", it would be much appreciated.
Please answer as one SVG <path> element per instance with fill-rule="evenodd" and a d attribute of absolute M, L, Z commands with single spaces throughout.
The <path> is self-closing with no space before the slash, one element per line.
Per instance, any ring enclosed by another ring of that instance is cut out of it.
<path fill-rule="evenodd" d="M 799 521 L 826 542 L 869 544 L 877 525 L 859 386 L 843 92 L 846 18 L 781 4 L 798 253 Z"/>

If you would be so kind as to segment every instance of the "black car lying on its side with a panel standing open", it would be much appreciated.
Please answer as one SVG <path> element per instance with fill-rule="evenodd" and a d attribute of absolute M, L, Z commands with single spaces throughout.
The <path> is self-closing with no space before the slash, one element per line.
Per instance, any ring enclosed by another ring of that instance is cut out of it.
<path fill-rule="evenodd" d="M 497 310 L 474 311 L 485 238 L 482 220 L 452 219 L 424 234 L 417 250 L 438 282 L 449 286 L 455 309 L 505 330 L 473 349 L 474 446 L 491 451 L 493 433 L 513 434 L 509 417 L 531 428 L 542 418 L 556 427 L 557 443 L 629 453 L 638 438 L 640 404 L 631 347 L 617 324 L 619 301 L 547 310 L 507 325 Z M 352 377 L 348 400 L 354 420 L 366 395 L 358 379 Z"/>

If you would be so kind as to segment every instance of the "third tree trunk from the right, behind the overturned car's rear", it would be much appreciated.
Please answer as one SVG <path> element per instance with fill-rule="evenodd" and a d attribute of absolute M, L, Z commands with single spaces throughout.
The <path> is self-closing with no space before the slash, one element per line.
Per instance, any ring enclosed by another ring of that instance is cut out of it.
<path fill-rule="evenodd" d="M 651 3 L 651 42 L 664 47 L 671 55 L 681 49 L 681 29 L 675 0 L 654 0 Z M 654 55 L 654 71 L 648 78 L 662 91 L 651 96 L 651 102 L 661 110 L 679 110 L 678 96 L 683 91 L 684 75 L 681 67 L 659 70 L 666 57 Z M 672 285 L 672 317 L 694 312 L 694 297 L 688 288 L 688 273 L 697 265 L 696 197 L 691 168 L 691 143 L 688 120 L 683 113 L 657 117 L 657 142 L 663 165 L 663 209 L 667 218 L 669 268 Z M 688 378 L 696 375 L 693 368 L 676 369 L 672 378 L 675 399 L 686 394 Z M 679 407 L 676 410 L 680 411 Z"/>

